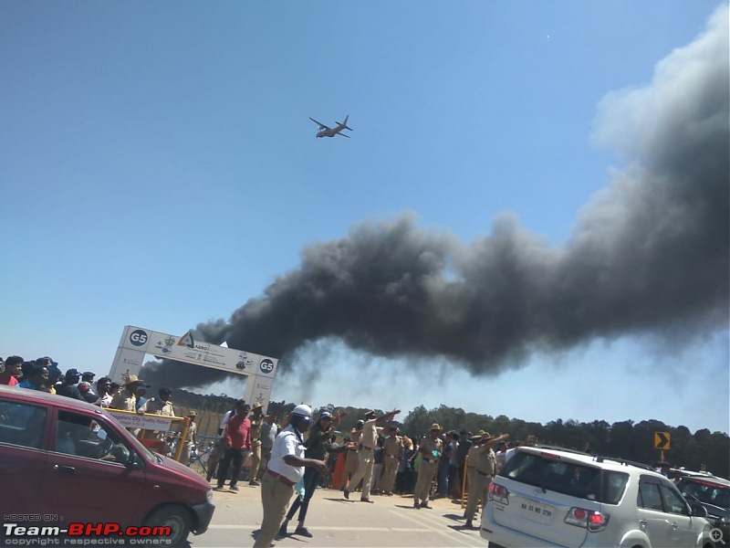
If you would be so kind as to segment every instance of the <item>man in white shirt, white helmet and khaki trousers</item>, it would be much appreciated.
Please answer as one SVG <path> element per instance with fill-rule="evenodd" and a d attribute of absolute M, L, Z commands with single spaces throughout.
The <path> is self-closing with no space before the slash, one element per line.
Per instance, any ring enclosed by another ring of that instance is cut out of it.
<path fill-rule="evenodd" d="M 320 474 L 327 469 L 324 460 L 304 457 L 302 433 L 308 430 L 311 420 L 311 407 L 296 406 L 290 414 L 289 425 L 274 440 L 268 468 L 261 481 L 264 519 L 254 548 L 268 548 L 276 537 L 291 500 L 292 488 L 304 477 L 305 467 L 314 467 Z"/>

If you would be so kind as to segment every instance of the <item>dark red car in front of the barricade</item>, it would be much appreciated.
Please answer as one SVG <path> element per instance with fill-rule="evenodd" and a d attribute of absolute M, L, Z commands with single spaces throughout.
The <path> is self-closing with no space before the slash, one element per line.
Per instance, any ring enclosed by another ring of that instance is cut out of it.
<path fill-rule="evenodd" d="M 0 385 L 0 536 L 41 526 L 175 546 L 207 530 L 212 500 L 206 481 L 151 453 L 104 409 Z"/>

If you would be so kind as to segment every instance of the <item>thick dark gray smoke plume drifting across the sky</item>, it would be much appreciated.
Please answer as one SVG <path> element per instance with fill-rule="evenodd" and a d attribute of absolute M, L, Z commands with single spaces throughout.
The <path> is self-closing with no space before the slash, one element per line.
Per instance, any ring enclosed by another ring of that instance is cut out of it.
<path fill-rule="evenodd" d="M 727 21 L 723 5 L 704 34 L 657 65 L 650 85 L 600 102 L 594 139 L 626 167 L 579 213 L 565 246 L 511 215 L 470 244 L 409 214 L 367 222 L 304 249 L 298 269 L 230 321 L 199 324 L 198 335 L 279 357 L 280 371 L 302 345 L 335 337 L 366 353 L 494 374 L 595 337 L 676 339 L 726 326 Z M 178 374 L 186 385 L 220 379 L 192 366 Z"/>

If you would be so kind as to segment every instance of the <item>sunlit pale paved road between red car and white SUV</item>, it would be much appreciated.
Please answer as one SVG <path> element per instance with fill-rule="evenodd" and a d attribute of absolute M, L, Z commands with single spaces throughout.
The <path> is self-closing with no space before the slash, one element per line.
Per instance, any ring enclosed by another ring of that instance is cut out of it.
<path fill-rule="evenodd" d="M 190 536 L 193 548 L 253 545 L 253 532 L 260 527 L 263 516 L 261 496 L 258 488 L 245 483 L 240 487 L 238 493 L 214 491 L 213 522 L 203 535 Z M 464 510 L 458 503 L 432 501 L 433 510 L 416 510 L 412 508 L 412 498 L 374 495 L 372 500 L 374 504 L 360 502 L 360 493 L 352 493 L 346 501 L 339 490 L 318 489 L 309 504 L 306 522 L 314 537 L 292 534 L 297 526 L 293 521 L 289 523 L 289 536 L 275 541 L 275 545 L 282 548 L 487 546 L 478 531 L 464 529 L 461 519 Z"/>

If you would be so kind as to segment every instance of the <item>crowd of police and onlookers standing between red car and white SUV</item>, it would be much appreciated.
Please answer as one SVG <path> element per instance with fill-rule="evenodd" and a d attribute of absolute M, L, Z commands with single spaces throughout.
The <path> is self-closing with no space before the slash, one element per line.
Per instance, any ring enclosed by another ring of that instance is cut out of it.
<path fill-rule="evenodd" d="M 295 519 L 294 534 L 312 537 L 305 522 L 318 487 L 340 490 L 346 499 L 360 492 L 360 501 L 366 503 L 374 502 L 373 495 L 412 496 L 418 510 L 431 508 L 433 499 L 464 495 L 464 528 L 475 529 L 479 502 L 485 501 L 497 469 L 516 446 L 506 435 L 444 432 L 438 424 L 420 437 L 401 436 L 392 424 L 397 409 L 381 416 L 365 413 L 344 437 L 337 431 L 344 412 L 322 411 L 313 420 L 311 408 L 301 405 L 279 426 L 276 416 L 261 410 L 259 403 L 252 407 L 237 401 L 224 414 L 219 441 L 207 461 L 214 489 L 226 490 L 229 481 L 227 489 L 238 492 L 245 458 L 251 454 L 247 479 L 250 486 L 261 487 L 264 506 L 256 546 L 287 536 Z"/>

